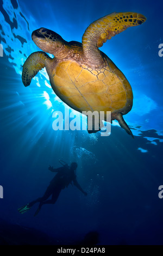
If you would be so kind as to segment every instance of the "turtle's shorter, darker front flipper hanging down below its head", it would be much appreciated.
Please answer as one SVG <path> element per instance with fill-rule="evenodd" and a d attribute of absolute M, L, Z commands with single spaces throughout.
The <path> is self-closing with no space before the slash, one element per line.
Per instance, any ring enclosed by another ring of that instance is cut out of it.
<path fill-rule="evenodd" d="M 51 59 L 45 52 L 34 52 L 30 54 L 23 65 L 22 81 L 24 86 L 29 86 L 32 78 L 43 69 L 47 60 Z"/>

